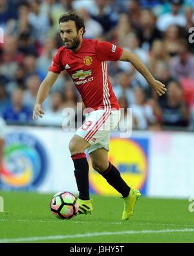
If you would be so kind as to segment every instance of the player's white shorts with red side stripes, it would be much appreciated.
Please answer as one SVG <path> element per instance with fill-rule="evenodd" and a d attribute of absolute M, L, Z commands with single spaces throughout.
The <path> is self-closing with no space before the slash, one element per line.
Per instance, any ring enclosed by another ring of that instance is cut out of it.
<path fill-rule="evenodd" d="M 118 125 L 120 110 L 95 110 L 85 115 L 85 122 L 76 134 L 91 144 L 88 153 L 104 147 L 109 151 L 110 133 Z"/>

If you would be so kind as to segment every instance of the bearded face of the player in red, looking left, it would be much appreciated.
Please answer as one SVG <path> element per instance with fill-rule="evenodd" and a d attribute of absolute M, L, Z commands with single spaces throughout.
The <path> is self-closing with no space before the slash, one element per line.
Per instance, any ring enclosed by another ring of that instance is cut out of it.
<path fill-rule="evenodd" d="M 81 28 L 77 31 L 75 21 L 70 20 L 59 23 L 59 32 L 67 49 L 74 51 L 79 47 L 83 29 Z"/>

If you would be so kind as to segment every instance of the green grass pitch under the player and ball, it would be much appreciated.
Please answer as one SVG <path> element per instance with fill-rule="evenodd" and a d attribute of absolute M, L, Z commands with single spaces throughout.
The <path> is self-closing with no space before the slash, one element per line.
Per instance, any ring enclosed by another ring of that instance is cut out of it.
<path fill-rule="evenodd" d="M 52 194 L 2 192 L 0 242 L 194 242 L 194 212 L 187 199 L 140 198 L 122 221 L 123 200 L 92 196 L 94 211 L 71 220 L 50 212 Z"/>

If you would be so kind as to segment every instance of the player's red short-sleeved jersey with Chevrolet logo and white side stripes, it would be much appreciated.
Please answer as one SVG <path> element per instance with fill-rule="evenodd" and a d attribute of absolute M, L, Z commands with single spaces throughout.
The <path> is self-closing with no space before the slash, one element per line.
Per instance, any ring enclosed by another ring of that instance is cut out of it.
<path fill-rule="evenodd" d="M 78 51 L 72 52 L 62 46 L 53 58 L 49 71 L 66 70 L 81 94 L 85 107 L 96 109 L 119 109 L 107 73 L 107 61 L 118 60 L 122 48 L 110 42 L 83 39 Z"/>

